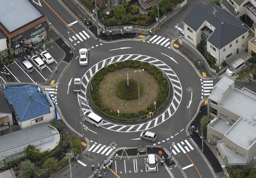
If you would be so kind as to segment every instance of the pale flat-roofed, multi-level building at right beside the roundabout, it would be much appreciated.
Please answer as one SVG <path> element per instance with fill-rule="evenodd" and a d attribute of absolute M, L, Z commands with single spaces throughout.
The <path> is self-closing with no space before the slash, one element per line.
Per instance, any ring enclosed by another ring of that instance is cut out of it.
<path fill-rule="evenodd" d="M 256 93 L 223 77 L 208 97 L 207 139 L 226 167 L 256 165 Z"/>

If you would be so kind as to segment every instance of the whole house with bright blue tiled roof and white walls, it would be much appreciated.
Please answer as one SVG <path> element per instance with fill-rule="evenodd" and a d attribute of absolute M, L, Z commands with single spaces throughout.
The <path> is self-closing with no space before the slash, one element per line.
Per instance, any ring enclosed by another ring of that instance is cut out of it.
<path fill-rule="evenodd" d="M 47 92 L 32 84 L 8 86 L 3 90 L 21 129 L 56 118 L 56 108 Z"/>

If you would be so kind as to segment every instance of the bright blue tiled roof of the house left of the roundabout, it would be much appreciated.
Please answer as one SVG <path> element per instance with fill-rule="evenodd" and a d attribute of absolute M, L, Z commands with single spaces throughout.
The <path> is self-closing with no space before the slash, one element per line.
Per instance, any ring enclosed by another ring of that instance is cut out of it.
<path fill-rule="evenodd" d="M 34 85 L 10 86 L 4 90 L 5 97 L 21 122 L 50 113 L 50 103 Z"/>

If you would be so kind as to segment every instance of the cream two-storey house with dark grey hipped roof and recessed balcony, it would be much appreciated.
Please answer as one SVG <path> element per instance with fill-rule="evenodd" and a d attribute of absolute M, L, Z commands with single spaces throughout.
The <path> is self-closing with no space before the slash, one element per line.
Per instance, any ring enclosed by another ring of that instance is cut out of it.
<path fill-rule="evenodd" d="M 206 40 L 216 65 L 248 48 L 249 30 L 235 16 L 217 5 L 198 3 L 183 20 L 185 40 L 197 47 Z"/>

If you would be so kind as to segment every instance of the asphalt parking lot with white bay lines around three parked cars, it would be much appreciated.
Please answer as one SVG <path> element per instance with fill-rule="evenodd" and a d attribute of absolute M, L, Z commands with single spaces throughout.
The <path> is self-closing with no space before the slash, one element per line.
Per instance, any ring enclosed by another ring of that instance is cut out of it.
<path fill-rule="evenodd" d="M 29 54 L 23 54 L 20 57 L 17 57 L 14 62 L 8 65 L 2 65 L 0 68 L 0 78 L 3 83 L 7 82 L 16 82 L 16 83 L 46 83 L 52 74 L 55 74 L 55 67 L 58 66 L 59 62 L 61 62 L 62 58 L 59 56 L 64 56 L 64 51 L 57 46 L 56 43 L 50 43 L 46 45 L 45 50 L 52 55 L 54 58 L 54 62 L 51 64 L 47 64 L 45 62 L 46 67 L 44 69 L 38 69 L 35 65 L 33 72 L 27 73 L 24 69 L 19 65 L 19 60 L 22 58 L 27 58 L 30 62 L 30 58 L 33 55 L 40 56 L 40 53 L 43 51 L 43 48 L 35 49 L 31 51 Z M 32 62 L 31 62 L 32 63 Z M 4 74 L 4 72 L 9 73 L 9 75 Z"/>

